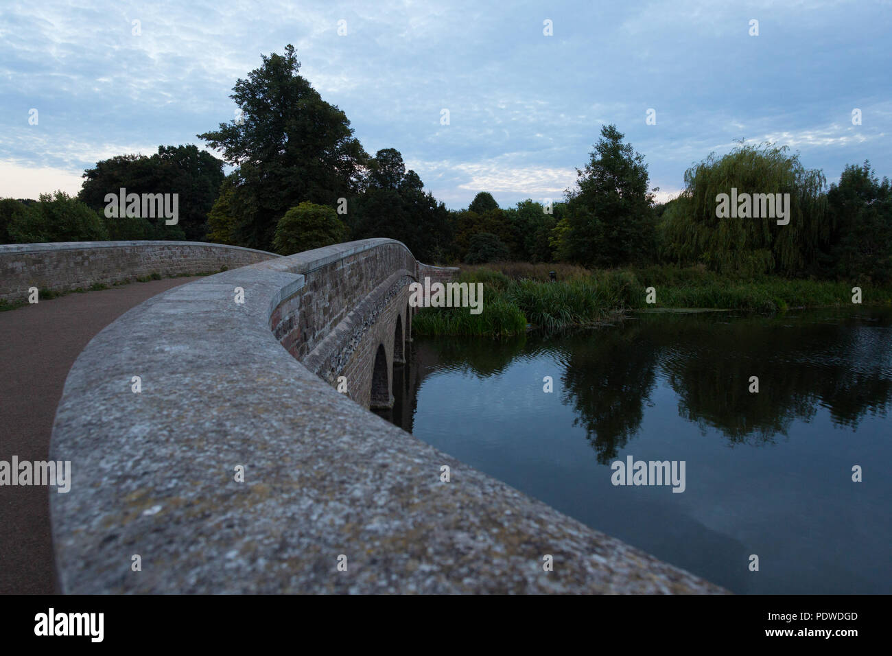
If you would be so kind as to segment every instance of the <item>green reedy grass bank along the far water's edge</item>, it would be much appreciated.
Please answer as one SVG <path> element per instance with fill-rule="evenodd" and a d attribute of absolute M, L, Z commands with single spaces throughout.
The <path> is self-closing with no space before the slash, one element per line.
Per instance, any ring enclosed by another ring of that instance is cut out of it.
<path fill-rule="evenodd" d="M 557 282 L 549 281 L 555 271 Z M 465 267 L 460 282 L 483 283 L 483 312 L 425 308 L 412 329 L 419 335 L 508 336 L 533 328 L 559 330 L 606 320 L 622 311 L 702 308 L 770 314 L 792 308 L 852 304 L 853 283 L 765 276 L 735 279 L 676 267 L 585 270 L 568 265 L 505 262 Z M 656 303 L 647 303 L 654 287 Z M 892 303 L 892 287 L 864 283 L 863 304 Z"/>

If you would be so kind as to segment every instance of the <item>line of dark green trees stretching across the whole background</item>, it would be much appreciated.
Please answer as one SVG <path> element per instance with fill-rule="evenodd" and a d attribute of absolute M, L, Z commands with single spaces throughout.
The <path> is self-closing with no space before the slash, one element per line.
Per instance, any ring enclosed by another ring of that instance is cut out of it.
<path fill-rule="evenodd" d="M 694 164 L 681 194 L 656 203 L 644 156 L 608 125 L 559 202 L 500 208 L 481 192 L 467 209 L 448 210 L 398 150 L 366 153 L 345 113 L 299 74 L 293 46 L 261 59 L 235 83 L 237 118 L 198 135 L 223 160 L 176 145 L 97 162 L 75 198 L 0 200 L 0 241 L 188 239 L 290 254 L 392 237 L 423 262 L 660 263 L 736 277 L 892 278 L 892 194 L 870 162 L 848 165 L 828 188 L 822 171 L 806 170 L 786 147 L 740 143 Z M 107 218 L 106 195 L 120 188 L 178 194 L 178 224 Z M 716 212 L 731 188 L 789 199 L 789 223 Z"/>

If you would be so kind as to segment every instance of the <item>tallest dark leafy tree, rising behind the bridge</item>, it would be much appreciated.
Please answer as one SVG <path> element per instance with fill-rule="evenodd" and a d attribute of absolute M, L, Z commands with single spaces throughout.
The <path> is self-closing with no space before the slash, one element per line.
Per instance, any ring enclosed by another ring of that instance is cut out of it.
<path fill-rule="evenodd" d="M 238 167 L 230 203 L 235 238 L 268 249 L 290 207 L 302 201 L 335 206 L 356 194 L 368 156 L 344 112 L 298 74 L 292 45 L 261 59 L 230 95 L 241 115 L 199 137 Z"/>

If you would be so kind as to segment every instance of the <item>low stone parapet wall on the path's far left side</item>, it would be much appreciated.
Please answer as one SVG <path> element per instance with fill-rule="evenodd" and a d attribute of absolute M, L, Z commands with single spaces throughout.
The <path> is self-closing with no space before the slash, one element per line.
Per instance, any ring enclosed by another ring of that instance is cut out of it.
<path fill-rule="evenodd" d="M 241 246 L 176 241 L 59 242 L 0 245 L 0 299 L 17 301 L 29 287 L 69 292 L 153 273 L 176 276 L 279 257 Z"/>

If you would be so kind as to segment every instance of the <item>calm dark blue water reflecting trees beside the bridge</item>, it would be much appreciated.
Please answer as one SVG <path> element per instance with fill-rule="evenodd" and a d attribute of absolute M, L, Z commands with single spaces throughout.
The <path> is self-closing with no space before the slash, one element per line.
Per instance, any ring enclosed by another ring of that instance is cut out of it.
<path fill-rule="evenodd" d="M 416 338 L 394 387 L 418 438 L 733 592 L 892 592 L 890 311 Z M 685 491 L 612 485 L 628 455 L 685 461 Z"/>

